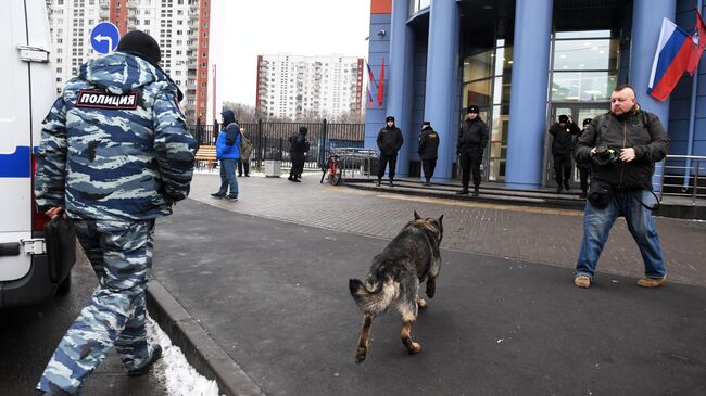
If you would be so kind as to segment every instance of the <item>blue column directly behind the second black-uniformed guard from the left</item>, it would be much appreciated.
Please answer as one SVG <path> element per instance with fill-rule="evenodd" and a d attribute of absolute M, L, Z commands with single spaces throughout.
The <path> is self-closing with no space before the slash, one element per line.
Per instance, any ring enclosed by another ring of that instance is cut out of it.
<path fill-rule="evenodd" d="M 436 178 L 451 178 L 455 161 L 453 146 L 457 131 L 451 130 L 452 117 L 458 115 L 455 99 L 458 68 L 458 7 L 455 1 L 431 0 L 429 10 L 429 42 L 427 52 L 427 82 L 425 119 L 439 132 L 439 159 Z M 418 132 L 418 130 L 417 130 Z"/>

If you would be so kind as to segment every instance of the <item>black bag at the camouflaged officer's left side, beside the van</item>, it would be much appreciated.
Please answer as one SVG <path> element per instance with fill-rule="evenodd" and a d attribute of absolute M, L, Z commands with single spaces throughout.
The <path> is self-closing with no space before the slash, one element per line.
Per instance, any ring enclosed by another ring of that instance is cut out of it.
<path fill-rule="evenodd" d="M 49 278 L 59 283 L 66 278 L 76 261 L 76 231 L 74 223 L 60 212 L 45 225 Z"/>

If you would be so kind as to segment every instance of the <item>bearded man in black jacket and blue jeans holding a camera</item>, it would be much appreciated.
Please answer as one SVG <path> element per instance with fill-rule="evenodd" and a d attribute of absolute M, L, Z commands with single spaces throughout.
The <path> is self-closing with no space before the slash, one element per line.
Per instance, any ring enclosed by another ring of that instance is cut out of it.
<path fill-rule="evenodd" d="M 577 162 L 592 162 L 591 187 L 583 216 L 583 240 L 573 283 L 589 288 L 616 218 L 623 216 L 645 264 L 643 288 L 656 288 L 667 271 L 659 238 L 646 206 L 653 202 L 655 163 L 667 155 L 669 138 L 659 118 L 640 110 L 635 91 L 618 86 L 610 113 L 593 118 L 576 148 Z"/>

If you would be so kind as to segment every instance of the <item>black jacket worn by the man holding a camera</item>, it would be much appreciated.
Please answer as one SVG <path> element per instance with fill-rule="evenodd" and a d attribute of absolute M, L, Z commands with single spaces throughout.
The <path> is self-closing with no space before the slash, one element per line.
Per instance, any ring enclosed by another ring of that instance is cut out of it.
<path fill-rule="evenodd" d="M 661 161 L 669 150 L 669 137 L 659 117 L 643 112 L 640 106 L 628 114 L 616 116 L 606 113 L 593 118 L 579 138 L 575 157 L 577 162 L 591 161 L 591 149 L 598 140 L 620 155 L 620 149 L 633 148 L 635 159 L 598 166 L 592 164 L 593 178 L 606 181 L 619 190 L 652 189 L 655 163 Z"/>

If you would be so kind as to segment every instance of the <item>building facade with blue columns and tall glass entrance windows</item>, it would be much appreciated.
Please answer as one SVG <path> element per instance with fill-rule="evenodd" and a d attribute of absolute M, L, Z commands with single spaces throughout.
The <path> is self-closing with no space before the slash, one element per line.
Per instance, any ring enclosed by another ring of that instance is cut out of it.
<path fill-rule="evenodd" d="M 455 178 L 458 126 L 475 104 L 490 130 L 483 178 L 512 188 L 551 186 L 550 125 L 559 114 L 580 125 L 606 113 L 610 93 L 622 82 L 633 85 L 638 102 L 663 120 L 670 153 L 684 154 L 691 144 L 694 155 L 706 154 L 706 131 L 697 128 L 693 141 L 684 141 L 683 111 L 646 94 L 661 20 L 691 33 L 695 0 L 371 4 L 368 62 L 377 74 L 384 59 L 387 81 L 382 105 L 376 102 L 366 112 L 366 146 L 376 146 L 384 116 L 395 116 L 405 136 L 398 159 L 402 175 L 419 175 L 416 142 L 421 122 L 430 120 L 442 139 L 434 178 Z M 685 95 L 690 85 L 691 78 L 682 78 L 672 98 Z M 706 92 L 698 102 L 706 105 Z"/>

